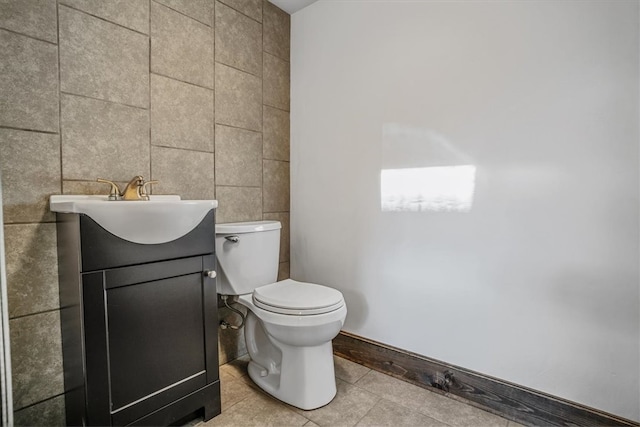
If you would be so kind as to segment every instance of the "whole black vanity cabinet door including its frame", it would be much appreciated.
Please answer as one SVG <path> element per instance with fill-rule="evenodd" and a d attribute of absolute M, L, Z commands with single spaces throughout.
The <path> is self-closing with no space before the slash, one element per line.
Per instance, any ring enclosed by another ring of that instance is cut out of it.
<path fill-rule="evenodd" d="M 215 281 L 203 274 L 214 260 L 83 275 L 90 425 L 129 424 L 217 380 Z"/>

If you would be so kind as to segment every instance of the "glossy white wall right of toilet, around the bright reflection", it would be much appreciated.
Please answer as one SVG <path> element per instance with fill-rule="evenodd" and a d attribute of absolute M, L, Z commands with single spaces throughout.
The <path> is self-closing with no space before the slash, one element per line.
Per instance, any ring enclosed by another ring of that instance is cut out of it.
<path fill-rule="evenodd" d="M 292 277 L 341 290 L 349 332 L 640 420 L 638 25 L 608 0 L 294 14 Z M 381 210 L 382 170 L 455 165 L 468 211 Z"/>

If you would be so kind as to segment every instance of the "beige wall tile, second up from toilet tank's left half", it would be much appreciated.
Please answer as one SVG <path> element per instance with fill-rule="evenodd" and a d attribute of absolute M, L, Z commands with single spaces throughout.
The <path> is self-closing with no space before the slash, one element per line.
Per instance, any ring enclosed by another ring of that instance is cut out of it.
<path fill-rule="evenodd" d="M 216 126 L 216 181 L 218 185 L 262 186 L 262 134 Z"/>

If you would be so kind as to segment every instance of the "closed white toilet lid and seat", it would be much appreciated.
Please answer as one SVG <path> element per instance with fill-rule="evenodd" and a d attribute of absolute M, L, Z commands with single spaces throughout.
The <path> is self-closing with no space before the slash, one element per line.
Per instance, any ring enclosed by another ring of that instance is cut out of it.
<path fill-rule="evenodd" d="M 256 288 L 253 303 L 275 313 L 311 315 L 337 310 L 344 299 L 336 289 L 287 279 Z"/>

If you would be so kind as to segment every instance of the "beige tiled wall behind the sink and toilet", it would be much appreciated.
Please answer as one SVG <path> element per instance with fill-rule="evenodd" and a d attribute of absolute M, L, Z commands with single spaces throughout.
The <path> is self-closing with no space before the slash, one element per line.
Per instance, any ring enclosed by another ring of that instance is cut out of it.
<path fill-rule="evenodd" d="M 288 277 L 289 27 L 263 0 L 0 3 L 16 425 L 65 423 L 51 194 L 141 174 L 156 194 L 216 198 L 218 222 L 277 219 Z M 220 363 L 246 351 L 220 335 Z"/>

